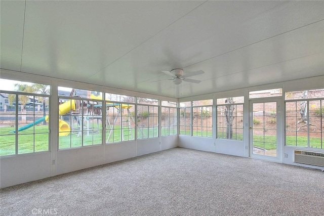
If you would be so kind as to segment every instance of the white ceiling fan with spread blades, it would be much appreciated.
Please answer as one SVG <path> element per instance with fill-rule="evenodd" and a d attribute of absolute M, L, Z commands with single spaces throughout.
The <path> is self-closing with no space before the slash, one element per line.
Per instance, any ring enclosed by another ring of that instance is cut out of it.
<path fill-rule="evenodd" d="M 192 72 L 192 73 L 183 74 L 182 69 L 173 69 L 171 71 L 163 70 L 162 72 L 164 72 L 165 74 L 173 77 L 172 79 L 163 79 L 163 80 L 172 80 L 173 84 L 175 84 L 175 85 L 181 84 L 182 81 L 192 82 L 192 83 L 199 83 L 200 80 L 188 79 L 187 77 L 205 73 L 203 70 L 198 70 L 198 71 L 195 71 L 195 72 Z M 163 81 L 163 80 L 157 80 L 157 81 Z"/>

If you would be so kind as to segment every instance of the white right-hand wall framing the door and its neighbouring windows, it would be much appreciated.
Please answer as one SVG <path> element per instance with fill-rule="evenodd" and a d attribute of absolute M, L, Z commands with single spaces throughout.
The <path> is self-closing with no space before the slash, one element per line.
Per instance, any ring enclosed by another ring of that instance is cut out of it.
<path fill-rule="evenodd" d="M 310 89 L 324 89 L 324 76 L 318 76 L 318 77 L 311 77 L 306 79 L 299 79 L 299 80 L 292 80 L 287 82 L 280 82 L 280 83 L 274 83 L 274 84 L 268 84 L 268 85 L 262 85 L 259 87 L 251 87 L 246 89 L 240 89 L 240 90 L 233 90 L 233 91 L 226 91 L 226 92 L 220 92 L 220 93 L 213 93 L 208 94 L 204 96 L 195 96 L 195 97 L 188 97 L 188 98 L 181 98 L 179 99 L 179 102 L 185 102 L 185 101 L 192 101 L 192 100 L 202 100 L 202 99 L 216 99 L 216 98 L 225 98 L 225 97 L 237 97 L 237 96 L 245 96 L 246 100 L 244 102 L 244 141 L 235 141 L 235 140 L 226 140 L 226 139 L 209 139 L 209 138 L 195 138 L 190 136 L 182 136 L 179 135 L 179 147 L 183 148 L 190 148 L 190 149 L 197 149 L 197 150 L 203 150 L 203 151 L 211 151 L 221 154 L 229 154 L 229 155 L 236 155 L 236 156 L 242 156 L 242 157 L 249 157 L 249 149 L 251 148 L 251 144 L 249 143 L 249 91 L 257 91 L 257 90 L 265 90 L 265 89 L 276 89 L 276 88 L 282 88 L 284 92 L 289 91 L 300 91 L 300 90 L 310 90 Z M 200 97 L 200 99 L 199 99 Z M 281 105 L 284 104 L 285 97 L 282 96 L 280 99 Z M 215 113 L 215 104 L 213 106 L 213 111 Z M 284 106 L 280 107 L 281 118 L 284 117 Z M 279 119 L 280 120 L 280 119 Z M 216 125 L 217 122 L 213 120 L 213 125 Z M 312 167 L 312 168 L 319 168 L 323 169 L 323 167 L 316 167 L 312 165 L 306 165 L 306 164 L 296 164 L 294 162 L 294 150 L 295 149 L 301 149 L 297 147 L 289 147 L 285 146 L 284 137 L 284 120 L 281 119 L 281 121 L 278 121 L 278 124 L 282 124 L 279 129 L 282 131 L 281 136 L 278 137 L 280 139 L 280 147 L 278 148 L 278 153 L 280 154 L 278 157 L 280 157 L 280 162 L 291 164 L 291 165 L 300 165 L 305 167 Z M 213 134 L 215 137 L 215 133 Z M 214 148 L 213 148 L 214 144 Z M 305 150 L 301 149 L 301 150 Z M 306 148 L 306 150 L 309 150 Z M 311 151 L 311 150 L 310 150 Z M 324 149 L 316 149 L 314 151 L 318 152 L 324 152 Z M 287 158 L 284 158 L 284 155 L 287 155 Z M 281 160 L 282 157 L 282 160 Z M 263 158 L 264 160 L 267 160 L 266 158 Z"/>

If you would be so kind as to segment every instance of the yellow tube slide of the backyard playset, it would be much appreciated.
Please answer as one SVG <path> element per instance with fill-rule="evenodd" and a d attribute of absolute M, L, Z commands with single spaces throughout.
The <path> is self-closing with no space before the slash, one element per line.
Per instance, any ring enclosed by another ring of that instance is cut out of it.
<path fill-rule="evenodd" d="M 61 104 L 59 106 L 59 115 L 64 115 L 71 110 L 75 110 L 75 101 L 74 100 L 68 100 L 67 102 Z M 49 116 L 47 115 L 45 117 L 45 120 L 49 122 Z M 66 121 L 63 121 L 62 119 L 59 119 L 59 136 L 67 136 L 70 134 L 70 125 L 66 123 Z"/>

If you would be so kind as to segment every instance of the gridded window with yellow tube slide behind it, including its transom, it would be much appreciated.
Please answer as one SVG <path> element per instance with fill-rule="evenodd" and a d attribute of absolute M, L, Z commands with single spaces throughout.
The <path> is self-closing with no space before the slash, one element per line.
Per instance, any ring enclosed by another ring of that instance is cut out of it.
<path fill-rule="evenodd" d="M 102 93 L 71 89 L 69 95 L 58 99 L 59 149 L 102 144 Z"/>

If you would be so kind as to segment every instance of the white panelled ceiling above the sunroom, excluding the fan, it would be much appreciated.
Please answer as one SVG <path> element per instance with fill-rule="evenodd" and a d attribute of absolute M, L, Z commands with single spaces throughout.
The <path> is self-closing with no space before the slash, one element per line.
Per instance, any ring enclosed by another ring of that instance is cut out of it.
<path fill-rule="evenodd" d="M 323 75 L 324 2 L 1 1 L 1 68 L 176 98 Z M 205 73 L 151 82 L 175 68 Z"/>

